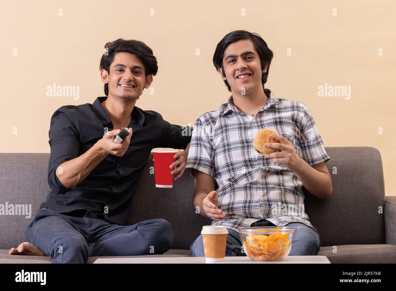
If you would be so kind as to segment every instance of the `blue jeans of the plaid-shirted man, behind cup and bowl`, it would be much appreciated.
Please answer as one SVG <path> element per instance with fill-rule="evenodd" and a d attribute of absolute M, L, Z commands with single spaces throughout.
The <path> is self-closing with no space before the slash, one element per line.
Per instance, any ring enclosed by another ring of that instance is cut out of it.
<path fill-rule="evenodd" d="M 268 220 L 252 223 L 251 226 L 276 226 Z M 304 223 L 296 222 L 289 223 L 287 227 L 296 228 L 294 234 L 293 244 L 289 256 L 309 256 L 317 255 L 320 249 L 320 238 L 318 232 L 313 228 L 305 225 Z M 227 243 L 225 249 L 226 257 L 232 256 L 246 256 L 242 252 L 242 243 L 240 240 L 239 232 L 227 227 Z M 194 240 L 190 246 L 190 251 L 193 257 L 205 257 L 204 242 L 202 234 Z"/>

